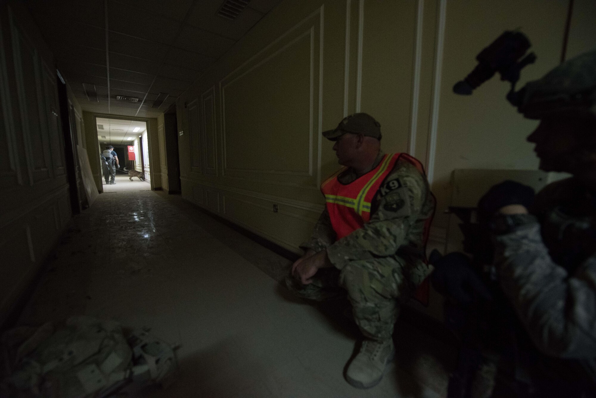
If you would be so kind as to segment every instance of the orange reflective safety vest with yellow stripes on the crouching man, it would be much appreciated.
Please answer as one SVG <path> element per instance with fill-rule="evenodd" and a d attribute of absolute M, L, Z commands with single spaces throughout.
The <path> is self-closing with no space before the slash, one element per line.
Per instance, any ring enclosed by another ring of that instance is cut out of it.
<path fill-rule="evenodd" d="M 416 158 L 405 153 L 386 154 L 383 160 L 370 172 L 360 176 L 350 184 L 342 184 L 337 178 L 346 167 L 325 180 L 321 184 L 321 192 L 327 201 L 327 211 L 331 219 L 333 230 L 337 234 L 337 240 L 346 237 L 356 229 L 362 228 L 364 223 L 371 217 L 371 203 L 377 191 L 381 188 L 384 180 L 393 171 L 395 162 L 399 158 L 409 161 L 424 175 L 424 167 Z M 392 182 L 389 182 L 391 184 Z M 399 182 L 395 181 L 395 184 Z M 430 223 L 432 216 L 424 223 L 423 244 L 426 262 L 426 242 L 429 238 Z M 429 302 L 429 281 L 428 278 L 418 287 L 414 297 L 427 305 Z"/>

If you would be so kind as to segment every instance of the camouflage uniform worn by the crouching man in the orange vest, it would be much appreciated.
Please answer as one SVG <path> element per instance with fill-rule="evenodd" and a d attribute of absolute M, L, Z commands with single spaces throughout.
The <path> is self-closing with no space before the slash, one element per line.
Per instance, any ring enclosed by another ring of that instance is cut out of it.
<path fill-rule="evenodd" d="M 382 159 L 381 152 L 371 170 Z M 338 178 L 342 184 L 350 184 L 358 176 L 348 169 Z M 398 316 L 398 300 L 411 297 L 430 273 L 425 262 L 423 229 L 433 210 L 434 197 L 425 176 L 408 161 L 398 160 L 375 194 L 371 218 L 362 228 L 336 241 L 329 213 L 324 210 L 312 237 L 301 247 L 314 251 L 326 248 L 334 267 L 319 269 L 308 285 L 289 276 L 288 287 L 312 300 L 347 293 L 363 334 L 377 340 L 390 338 Z"/>

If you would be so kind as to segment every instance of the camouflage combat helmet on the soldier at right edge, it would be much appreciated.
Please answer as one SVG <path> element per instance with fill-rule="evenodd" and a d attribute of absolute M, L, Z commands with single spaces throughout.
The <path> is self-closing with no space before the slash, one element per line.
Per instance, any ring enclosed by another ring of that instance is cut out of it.
<path fill-rule="evenodd" d="M 517 110 L 528 119 L 542 119 L 561 111 L 585 112 L 596 117 L 596 49 L 528 82 L 516 94 Z"/>

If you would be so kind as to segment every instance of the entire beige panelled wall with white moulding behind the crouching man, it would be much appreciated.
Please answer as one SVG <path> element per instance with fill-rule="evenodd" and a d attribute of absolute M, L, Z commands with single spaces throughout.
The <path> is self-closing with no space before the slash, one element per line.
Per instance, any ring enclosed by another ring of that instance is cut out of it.
<path fill-rule="evenodd" d="M 361 110 L 380 121 L 385 151 L 409 151 L 430 168 L 440 239 L 453 170 L 538 164 L 524 143 L 536 122 L 508 104 L 507 84 L 495 77 L 471 97 L 452 86 L 482 48 L 518 26 L 538 54 L 521 83 L 550 70 L 567 7 L 567 0 L 283 1 L 179 98 L 182 195 L 297 251 L 323 208 L 318 185 L 338 167 L 320 132 Z M 570 53 L 594 32 L 583 12 L 573 24 Z"/>

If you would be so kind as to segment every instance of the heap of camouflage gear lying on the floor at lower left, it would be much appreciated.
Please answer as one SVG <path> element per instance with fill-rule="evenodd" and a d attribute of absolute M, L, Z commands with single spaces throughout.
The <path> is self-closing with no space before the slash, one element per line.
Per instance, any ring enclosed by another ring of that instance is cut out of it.
<path fill-rule="evenodd" d="M 101 398 L 131 384 L 166 387 L 177 366 L 173 348 L 147 330 L 90 316 L 17 327 L 0 343 L 2 397 Z"/>

